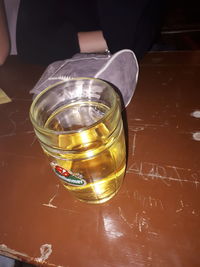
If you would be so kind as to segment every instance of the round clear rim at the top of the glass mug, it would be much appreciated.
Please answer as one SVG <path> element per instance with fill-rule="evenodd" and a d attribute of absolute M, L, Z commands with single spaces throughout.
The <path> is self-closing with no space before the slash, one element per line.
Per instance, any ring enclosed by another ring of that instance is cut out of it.
<path fill-rule="evenodd" d="M 51 130 L 51 129 L 48 129 L 48 128 L 44 128 L 42 126 L 39 126 L 36 122 L 36 120 L 34 119 L 34 117 L 32 116 L 32 113 L 33 113 L 33 110 L 35 108 L 35 105 L 38 101 L 38 99 L 43 95 L 45 94 L 47 91 L 50 91 L 52 90 L 54 87 L 56 87 L 57 85 L 60 85 L 60 84 L 63 84 L 63 83 L 67 83 L 67 82 L 70 82 L 70 81 L 73 81 L 73 80 L 96 80 L 102 84 L 105 84 L 106 86 L 110 87 L 113 91 L 113 95 L 115 96 L 114 99 L 113 99 L 113 105 L 111 106 L 111 108 L 99 119 L 97 120 L 96 122 L 88 125 L 88 126 L 84 126 L 84 127 L 81 127 L 80 129 L 77 129 L 77 130 L 69 130 L 69 131 L 55 131 L 55 130 Z M 100 123 L 101 121 L 103 121 L 106 117 L 108 117 L 112 112 L 113 110 L 115 109 L 116 107 L 116 103 L 117 103 L 117 93 L 115 92 L 114 88 L 112 87 L 112 85 L 110 85 L 108 82 L 104 81 L 104 80 L 101 80 L 101 79 L 98 79 L 98 78 L 90 78 L 90 77 L 76 77 L 76 78 L 68 78 L 67 80 L 63 80 L 63 81 L 60 81 L 60 82 L 56 82 L 52 85 L 49 85 L 48 87 L 46 87 L 44 90 L 42 90 L 34 99 L 33 99 L 33 102 L 31 103 L 31 106 L 30 106 L 30 109 L 29 109 L 29 117 L 30 117 L 30 120 L 34 126 L 34 128 L 36 130 L 38 130 L 39 132 L 43 132 L 43 133 L 51 133 L 51 134 L 54 134 L 54 135 L 69 135 L 69 134 L 75 134 L 75 133 L 80 133 L 82 131 L 86 131 L 92 127 L 94 127 L 95 125 L 97 125 L 98 123 Z"/>

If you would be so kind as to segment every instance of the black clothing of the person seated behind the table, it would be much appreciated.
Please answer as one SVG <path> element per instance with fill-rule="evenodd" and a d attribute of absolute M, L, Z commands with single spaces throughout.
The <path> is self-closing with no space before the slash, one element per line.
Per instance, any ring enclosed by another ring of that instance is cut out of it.
<path fill-rule="evenodd" d="M 131 49 L 140 59 L 160 27 L 165 0 L 21 0 L 17 51 L 49 64 L 80 52 L 77 33 L 102 30 L 111 53 Z"/>

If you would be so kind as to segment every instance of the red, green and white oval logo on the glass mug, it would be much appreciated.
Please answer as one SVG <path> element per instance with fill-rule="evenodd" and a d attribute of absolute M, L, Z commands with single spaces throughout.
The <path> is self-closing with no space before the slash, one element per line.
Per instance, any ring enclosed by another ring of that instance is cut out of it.
<path fill-rule="evenodd" d="M 81 174 L 72 173 L 71 171 L 66 170 L 65 168 L 55 163 L 51 163 L 51 166 L 53 167 L 55 174 L 67 184 L 73 186 L 86 185 L 86 181 L 83 179 L 83 176 Z"/>

